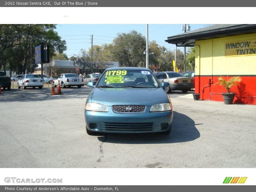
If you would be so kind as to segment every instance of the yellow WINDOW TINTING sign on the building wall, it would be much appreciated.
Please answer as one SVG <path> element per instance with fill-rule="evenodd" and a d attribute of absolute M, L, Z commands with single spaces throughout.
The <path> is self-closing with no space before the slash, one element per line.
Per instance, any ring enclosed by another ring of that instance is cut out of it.
<path fill-rule="evenodd" d="M 256 40 L 233 41 L 225 43 L 225 57 L 256 55 Z"/>

